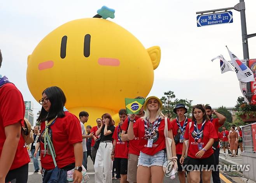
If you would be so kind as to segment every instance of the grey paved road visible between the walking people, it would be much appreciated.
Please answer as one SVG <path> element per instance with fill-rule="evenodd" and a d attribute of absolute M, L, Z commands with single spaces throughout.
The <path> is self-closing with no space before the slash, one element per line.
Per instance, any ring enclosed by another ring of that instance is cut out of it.
<path fill-rule="evenodd" d="M 42 182 L 42 175 L 39 174 L 33 174 L 34 172 L 34 166 L 33 166 L 33 161 L 31 159 L 31 162 L 28 166 L 28 183 L 41 183 Z M 93 162 L 91 161 L 91 159 L 88 158 L 88 174 L 89 174 L 89 178 L 90 180 L 88 181 L 89 183 L 94 183 L 95 182 L 95 178 L 94 178 L 94 168 L 93 168 Z M 119 183 L 119 180 L 113 180 L 113 183 Z M 176 176 L 176 178 L 174 180 L 171 180 L 168 177 L 165 177 L 164 183 L 179 183 L 179 178 Z M 212 183 L 212 181 L 211 181 Z M 221 180 L 221 183 L 225 183 L 225 181 Z"/>

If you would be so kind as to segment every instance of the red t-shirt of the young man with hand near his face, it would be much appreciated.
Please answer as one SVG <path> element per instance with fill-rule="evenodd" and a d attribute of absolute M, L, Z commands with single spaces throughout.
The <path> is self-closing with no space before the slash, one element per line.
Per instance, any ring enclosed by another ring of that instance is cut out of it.
<path fill-rule="evenodd" d="M 128 142 L 119 141 L 117 135 L 120 137 L 121 140 L 122 130 L 118 126 L 119 125 L 116 126 L 112 136 L 112 138 L 116 140 L 115 158 L 128 158 Z"/>

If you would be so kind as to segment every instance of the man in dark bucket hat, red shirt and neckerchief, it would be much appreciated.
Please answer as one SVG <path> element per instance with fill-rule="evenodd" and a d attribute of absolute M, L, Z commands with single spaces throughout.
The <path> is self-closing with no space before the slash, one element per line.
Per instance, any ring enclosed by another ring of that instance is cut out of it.
<path fill-rule="evenodd" d="M 186 126 L 189 124 L 189 122 L 192 122 L 191 119 L 185 116 L 187 112 L 188 112 L 188 109 L 184 104 L 177 104 L 174 108 L 174 113 L 177 114 L 177 118 L 172 120 L 171 122 L 172 134 L 174 135 L 174 141 L 176 145 L 178 175 L 179 175 L 179 181 L 181 183 L 186 183 L 186 176 L 185 176 L 185 171 L 182 171 L 182 167 L 179 160 L 181 159 Z M 188 176 L 188 182 L 189 182 L 189 176 Z"/>

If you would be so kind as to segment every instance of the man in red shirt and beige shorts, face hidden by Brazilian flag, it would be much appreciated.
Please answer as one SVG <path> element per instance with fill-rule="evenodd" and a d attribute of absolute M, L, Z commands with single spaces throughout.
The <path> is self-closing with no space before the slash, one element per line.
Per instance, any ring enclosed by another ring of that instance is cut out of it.
<path fill-rule="evenodd" d="M 136 99 L 143 99 L 143 97 L 136 97 Z M 144 108 L 142 107 L 140 109 L 140 112 L 138 114 L 135 114 L 135 120 L 131 122 L 135 122 L 140 117 L 144 116 Z M 124 121 L 124 124 L 122 125 L 122 135 L 121 140 L 129 141 L 127 136 L 128 126 L 130 123 L 130 119 L 126 118 Z M 140 155 L 139 150 L 139 138 L 134 138 L 133 140 L 130 140 L 128 143 L 128 172 L 127 172 L 127 181 L 128 182 L 137 182 L 137 165 L 138 165 L 138 159 Z"/>

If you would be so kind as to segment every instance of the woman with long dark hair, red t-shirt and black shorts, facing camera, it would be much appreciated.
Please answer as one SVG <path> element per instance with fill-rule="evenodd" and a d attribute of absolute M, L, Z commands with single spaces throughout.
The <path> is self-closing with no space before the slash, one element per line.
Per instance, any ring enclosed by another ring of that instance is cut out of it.
<path fill-rule="evenodd" d="M 184 168 L 189 171 L 192 182 L 200 182 L 200 171 L 202 171 L 203 183 L 210 183 L 215 162 L 212 144 L 218 136 L 214 125 L 209 121 L 203 105 L 193 106 L 192 114 L 193 122 L 191 125 L 186 126 L 184 134 L 184 139 L 189 140 L 188 158 L 185 161 L 187 167 L 184 165 Z M 184 163 L 185 152 L 186 145 L 183 143 L 181 164 Z"/>

